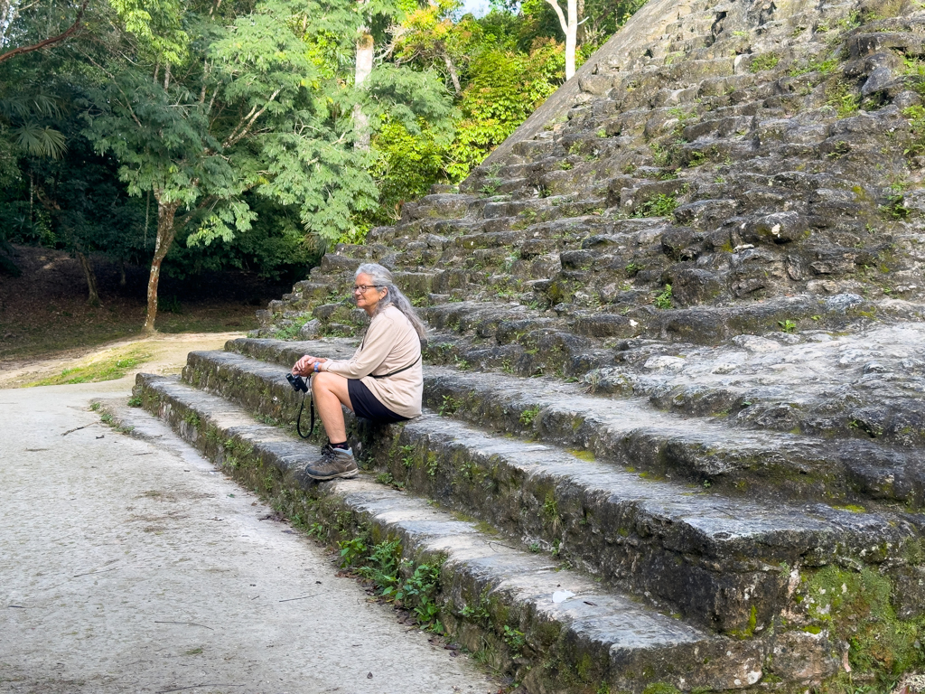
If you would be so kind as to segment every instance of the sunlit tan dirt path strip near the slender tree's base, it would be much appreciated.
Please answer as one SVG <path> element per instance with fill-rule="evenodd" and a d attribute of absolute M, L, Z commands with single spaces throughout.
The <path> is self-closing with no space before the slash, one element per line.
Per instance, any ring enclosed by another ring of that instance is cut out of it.
<path fill-rule="evenodd" d="M 42 378 L 56 376 L 66 368 L 85 366 L 129 351 L 150 353 L 151 358 L 130 371 L 123 378 L 127 382 L 134 383 L 138 371 L 148 374 L 179 374 L 186 364 L 187 353 L 221 349 L 226 341 L 243 336 L 242 332 L 156 333 L 109 342 L 93 349 L 57 354 L 51 359 L 0 362 L 0 389 L 19 388 Z"/>

